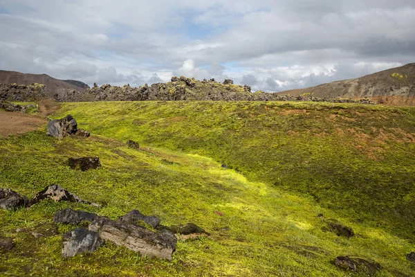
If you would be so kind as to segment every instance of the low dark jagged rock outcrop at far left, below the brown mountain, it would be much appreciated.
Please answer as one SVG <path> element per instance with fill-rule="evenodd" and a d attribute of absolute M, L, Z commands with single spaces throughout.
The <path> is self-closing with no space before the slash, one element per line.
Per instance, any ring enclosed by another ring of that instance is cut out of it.
<path fill-rule="evenodd" d="M 48 98 L 43 84 L 0 84 L 0 101 L 39 101 Z"/>

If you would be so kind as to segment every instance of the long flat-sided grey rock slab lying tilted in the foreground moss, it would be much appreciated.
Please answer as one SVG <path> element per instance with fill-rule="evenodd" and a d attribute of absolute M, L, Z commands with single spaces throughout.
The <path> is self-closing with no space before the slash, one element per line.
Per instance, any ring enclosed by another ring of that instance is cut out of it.
<path fill-rule="evenodd" d="M 101 238 L 127 247 L 141 255 L 172 259 L 177 239 L 167 230 L 153 232 L 136 224 L 98 218 L 89 225 L 89 230 L 99 232 Z"/>

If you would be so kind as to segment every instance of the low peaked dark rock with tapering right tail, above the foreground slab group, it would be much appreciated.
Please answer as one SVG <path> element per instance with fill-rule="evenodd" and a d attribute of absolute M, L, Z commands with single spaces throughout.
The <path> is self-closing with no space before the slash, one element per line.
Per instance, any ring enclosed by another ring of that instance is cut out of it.
<path fill-rule="evenodd" d="M 62 188 L 62 186 L 58 185 L 51 185 L 44 188 L 44 190 L 37 193 L 37 195 L 30 201 L 30 205 L 36 204 L 37 202 L 43 199 L 53 199 L 55 201 L 80 202 L 84 204 L 91 204 L 93 206 L 100 206 L 98 204 L 82 200 L 77 195 L 69 193 L 68 190 L 65 190 L 64 188 Z"/>

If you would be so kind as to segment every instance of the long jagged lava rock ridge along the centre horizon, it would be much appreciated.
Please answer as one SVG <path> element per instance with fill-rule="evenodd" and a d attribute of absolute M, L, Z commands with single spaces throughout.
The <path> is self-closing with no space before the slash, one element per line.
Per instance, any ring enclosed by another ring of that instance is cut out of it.
<path fill-rule="evenodd" d="M 142 101 L 142 100 L 248 100 L 248 101 L 315 101 L 315 102 L 360 102 L 369 104 L 369 100 L 345 100 L 316 98 L 313 96 L 289 96 L 279 93 L 251 92 L 251 87 L 245 85 L 231 85 L 232 80 L 225 80 L 225 84 L 214 79 L 198 81 L 185 76 L 172 77 L 172 82 L 157 83 L 141 87 L 113 87 L 104 84 L 101 87 L 87 89 L 84 93 L 71 91 L 56 99 L 61 102 L 82 101 Z"/>

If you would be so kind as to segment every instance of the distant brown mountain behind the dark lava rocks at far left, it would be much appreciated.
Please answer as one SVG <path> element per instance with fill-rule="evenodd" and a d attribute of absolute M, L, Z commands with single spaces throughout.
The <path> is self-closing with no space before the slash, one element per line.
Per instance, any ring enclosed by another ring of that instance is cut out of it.
<path fill-rule="evenodd" d="M 75 80 L 58 80 L 46 74 L 29 74 L 16 71 L 0 71 L 0 84 L 24 84 L 26 86 L 37 83 L 44 84 L 48 96 L 53 98 L 55 94 L 62 96 L 68 91 L 84 92 L 89 89 L 87 84 Z"/>

